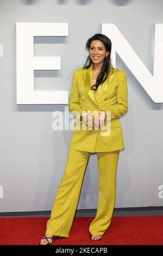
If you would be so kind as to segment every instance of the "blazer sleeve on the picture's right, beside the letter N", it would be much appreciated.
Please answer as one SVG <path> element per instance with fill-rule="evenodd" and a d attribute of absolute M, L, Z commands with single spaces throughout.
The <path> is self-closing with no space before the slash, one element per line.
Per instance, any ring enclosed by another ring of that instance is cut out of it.
<path fill-rule="evenodd" d="M 107 111 L 111 111 L 111 120 L 121 117 L 128 109 L 128 92 L 127 92 L 127 76 L 123 71 L 120 77 L 120 82 L 117 88 L 117 99 L 116 104 L 103 107 L 103 110 L 106 112 L 106 119 L 110 119 L 110 115 L 107 114 Z"/>

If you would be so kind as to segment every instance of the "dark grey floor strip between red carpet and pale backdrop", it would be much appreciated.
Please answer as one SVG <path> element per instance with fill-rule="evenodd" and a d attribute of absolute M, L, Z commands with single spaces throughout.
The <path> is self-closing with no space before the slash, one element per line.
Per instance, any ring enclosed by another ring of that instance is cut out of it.
<path fill-rule="evenodd" d="M 76 217 L 96 216 L 97 209 L 77 210 Z M 51 211 L 33 212 L 1 212 L 0 217 L 49 217 Z M 139 208 L 116 208 L 113 216 L 163 216 L 163 206 L 139 207 Z"/>

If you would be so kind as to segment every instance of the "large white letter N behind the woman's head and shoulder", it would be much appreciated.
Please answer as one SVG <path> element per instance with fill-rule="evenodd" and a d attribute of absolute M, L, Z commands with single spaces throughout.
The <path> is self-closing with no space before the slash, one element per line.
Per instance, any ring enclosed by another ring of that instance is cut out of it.
<path fill-rule="evenodd" d="M 117 52 L 151 99 L 156 103 L 163 103 L 163 25 L 153 24 L 152 27 L 153 75 L 114 24 L 102 24 L 102 33 L 112 42 L 112 63 L 115 65 Z"/>

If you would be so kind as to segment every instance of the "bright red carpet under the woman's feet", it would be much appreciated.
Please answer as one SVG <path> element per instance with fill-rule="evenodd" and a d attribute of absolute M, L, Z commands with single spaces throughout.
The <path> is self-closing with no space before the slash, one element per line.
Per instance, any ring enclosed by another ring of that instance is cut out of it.
<path fill-rule="evenodd" d="M 163 216 L 112 217 L 100 241 L 91 241 L 94 217 L 76 217 L 68 238 L 53 245 L 163 245 Z M 37 245 L 45 234 L 48 217 L 1 217 L 0 245 Z"/>

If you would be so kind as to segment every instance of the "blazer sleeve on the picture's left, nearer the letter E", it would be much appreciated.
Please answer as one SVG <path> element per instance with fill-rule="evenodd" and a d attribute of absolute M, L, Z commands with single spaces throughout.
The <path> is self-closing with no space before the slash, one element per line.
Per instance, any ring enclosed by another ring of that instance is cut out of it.
<path fill-rule="evenodd" d="M 68 104 L 68 109 L 70 113 L 74 116 L 74 118 L 80 119 L 80 115 L 82 115 L 82 112 L 86 111 L 86 109 L 81 108 L 79 105 L 79 90 L 78 90 L 77 79 L 78 79 L 77 72 L 76 70 L 74 70 L 72 83 L 71 83 L 70 102 Z"/>

